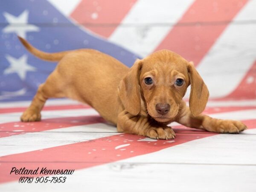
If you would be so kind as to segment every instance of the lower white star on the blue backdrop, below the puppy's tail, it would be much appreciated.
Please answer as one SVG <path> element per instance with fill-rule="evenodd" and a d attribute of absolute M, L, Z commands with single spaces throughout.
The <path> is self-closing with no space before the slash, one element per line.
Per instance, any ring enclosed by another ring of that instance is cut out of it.
<path fill-rule="evenodd" d="M 18 59 L 10 55 L 6 55 L 6 59 L 9 61 L 11 65 L 6 70 L 4 70 L 4 74 L 17 73 L 21 80 L 25 80 L 26 73 L 28 71 L 36 71 L 35 67 L 32 67 L 29 64 L 27 64 L 27 55 L 22 55 Z"/>

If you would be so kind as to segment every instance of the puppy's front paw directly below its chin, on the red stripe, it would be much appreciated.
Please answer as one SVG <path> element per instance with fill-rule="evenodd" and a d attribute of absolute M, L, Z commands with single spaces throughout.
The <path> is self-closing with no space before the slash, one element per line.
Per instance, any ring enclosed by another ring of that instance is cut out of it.
<path fill-rule="evenodd" d="M 175 132 L 172 128 L 166 126 L 163 128 L 149 128 L 145 134 L 146 137 L 151 139 L 161 139 L 161 140 L 168 140 L 174 139 L 176 137 Z"/>

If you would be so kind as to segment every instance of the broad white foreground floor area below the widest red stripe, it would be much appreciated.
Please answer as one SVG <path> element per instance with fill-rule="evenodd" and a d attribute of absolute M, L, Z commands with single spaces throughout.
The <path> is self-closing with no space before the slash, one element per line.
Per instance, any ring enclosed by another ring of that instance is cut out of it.
<path fill-rule="evenodd" d="M 62 185 L 47 183 L 40 184 L 39 188 L 36 184 L 11 182 L 0 185 L 0 189 L 5 192 L 34 189 L 38 192 L 70 191 L 70 188 L 90 192 L 142 189 L 166 192 L 254 192 L 256 150 L 249 144 L 256 140 L 256 135 L 250 139 L 247 139 L 247 135 L 237 135 L 235 138 L 234 135 L 225 135 L 224 138 L 218 138 L 220 136 L 223 135 L 210 137 L 208 141 L 192 141 L 185 146 L 165 149 L 156 154 L 76 170 L 67 177 L 67 183 Z M 233 145 L 231 150 L 230 145 Z M 1 163 L 1 166 L 4 164 Z"/>

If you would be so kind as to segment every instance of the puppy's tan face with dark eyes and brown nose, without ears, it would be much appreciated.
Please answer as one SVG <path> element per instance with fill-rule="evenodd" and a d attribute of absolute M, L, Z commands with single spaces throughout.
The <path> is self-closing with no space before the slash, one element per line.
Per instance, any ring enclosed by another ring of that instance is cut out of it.
<path fill-rule="evenodd" d="M 141 61 L 139 84 L 148 114 L 158 122 L 177 116 L 189 86 L 188 62 L 167 50 Z"/>

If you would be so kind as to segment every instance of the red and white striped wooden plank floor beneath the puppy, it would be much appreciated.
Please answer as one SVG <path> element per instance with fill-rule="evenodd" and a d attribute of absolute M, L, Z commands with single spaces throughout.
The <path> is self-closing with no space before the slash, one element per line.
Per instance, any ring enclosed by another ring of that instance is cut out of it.
<path fill-rule="evenodd" d="M 151 140 L 117 133 L 87 106 L 62 113 L 46 107 L 44 120 L 33 123 L 18 122 L 21 112 L 0 111 L 0 119 L 6 119 L 0 125 L 0 191 L 255 191 L 256 105 L 207 110 L 211 116 L 243 120 L 249 129 L 213 134 L 174 123 L 175 140 Z M 12 167 L 75 171 L 61 184 L 21 184 L 22 175 L 10 175 Z"/>

